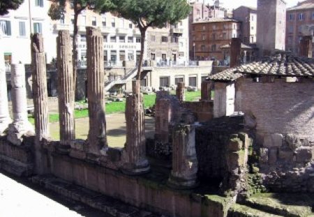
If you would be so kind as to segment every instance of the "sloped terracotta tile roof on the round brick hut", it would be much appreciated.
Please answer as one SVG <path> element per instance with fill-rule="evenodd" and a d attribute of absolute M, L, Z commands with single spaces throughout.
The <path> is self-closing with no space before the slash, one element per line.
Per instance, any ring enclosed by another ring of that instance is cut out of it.
<path fill-rule="evenodd" d="M 299 57 L 291 52 L 280 52 L 236 68 L 223 70 L 216 75 L 210 75 L 209 80 L 234 81 L 244 74 L 314 77 L 314 59 Z"/>

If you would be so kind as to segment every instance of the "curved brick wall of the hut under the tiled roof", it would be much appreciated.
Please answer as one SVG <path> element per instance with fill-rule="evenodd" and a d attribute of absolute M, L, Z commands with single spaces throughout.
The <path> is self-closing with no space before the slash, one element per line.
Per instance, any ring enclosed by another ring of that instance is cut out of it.
<path fill-rule="evenodd" d="M 262 83 L 241 78 L 236 84 L 236 111 L 251 114 L 258 134 L 292 133 L 314 142 L 312 80 Z"/>

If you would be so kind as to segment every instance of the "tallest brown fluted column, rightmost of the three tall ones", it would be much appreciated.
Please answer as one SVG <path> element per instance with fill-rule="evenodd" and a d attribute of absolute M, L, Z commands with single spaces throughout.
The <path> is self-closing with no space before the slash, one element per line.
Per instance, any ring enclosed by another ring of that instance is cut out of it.
<path fill-rule="evenodd" d="M 103 36 L 99 29 L 87 27 L 87 97 L 89 99 L 89 135 L 87 151 L 99 155 L 107 150 L 105 120 L 105 72 Z"/>

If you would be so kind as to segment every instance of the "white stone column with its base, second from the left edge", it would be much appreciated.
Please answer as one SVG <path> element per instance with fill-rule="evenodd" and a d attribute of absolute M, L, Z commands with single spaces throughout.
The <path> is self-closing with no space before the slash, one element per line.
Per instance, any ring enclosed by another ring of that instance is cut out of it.
<path fill-rule="evenodd" d="M 8 128 L 8 141 L 20 145 L 23 135 L 33 135 L 34 130 L 28 120 L 27 92 L 25 87 L 24 64 L 13 64 L 11 68 L 13 123 Z"/>

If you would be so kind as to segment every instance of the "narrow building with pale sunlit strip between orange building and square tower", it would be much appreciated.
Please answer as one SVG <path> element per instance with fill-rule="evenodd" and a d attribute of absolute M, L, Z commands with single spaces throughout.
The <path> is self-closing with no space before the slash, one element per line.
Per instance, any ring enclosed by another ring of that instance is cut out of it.
<path fill-rule="evenodd" d="M 233 10 L 233 18 L 241 21 L 240 38 L 242 43 L 252 45 L 256 43 L 257 34 L 257 9 L 240 6 Z"/>

